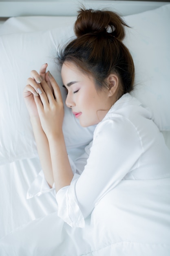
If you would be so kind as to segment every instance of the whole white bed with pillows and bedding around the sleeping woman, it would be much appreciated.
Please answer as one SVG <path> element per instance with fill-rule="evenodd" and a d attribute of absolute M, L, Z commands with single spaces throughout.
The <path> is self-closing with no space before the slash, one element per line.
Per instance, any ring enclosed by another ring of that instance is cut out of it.
<path fill-rule="evenodd" d="M 73 36 L 79 4 L 0 1 L 0 256 L 169 256 L 170 179 L 152 181 L 154 192 L 151 181 L 139 181 L 135 196 L 129 189 L 132 181 L 121 183 L 96 205 L 85 228 L 72 228 L 57 217 L 55 196 L 48 189 L 33 195 L 29 190 L 41 166 L 22 91 L 30 71 L 48 63 L 65 99 L 54 56 Z M 150 110 L 170 149 L 170 3 L 83 4 L 115 10 L 131 27 L 124 43 L 136 68 L 132 95 Z M 73 162 L 92 141 L 94 129 L 80 127 L 65 108 L 63 131 Z"/>

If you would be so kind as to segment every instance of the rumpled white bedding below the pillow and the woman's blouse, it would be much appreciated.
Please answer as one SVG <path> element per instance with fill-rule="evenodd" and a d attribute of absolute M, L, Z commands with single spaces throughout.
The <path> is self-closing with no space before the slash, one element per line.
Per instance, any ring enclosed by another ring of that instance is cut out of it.
<path fill-rule="evenodd" d="M 170 179 L 124 180 L 86 227 L 57 217 L 52 193 L 26 199 L 38 158 L 0 166 L 0 256 L 169 256 Z"/>

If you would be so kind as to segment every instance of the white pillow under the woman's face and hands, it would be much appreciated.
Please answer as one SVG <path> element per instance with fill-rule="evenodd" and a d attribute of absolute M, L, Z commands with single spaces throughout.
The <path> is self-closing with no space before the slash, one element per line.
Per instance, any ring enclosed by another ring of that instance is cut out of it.
<path fill-rule="evenodd" d="M 66 34 L 65 34 L 66 33 Z M 39 70 L 43 63 L 60 84 L 60 72 L 54 61 L 56 49 L 66 36 L 73 35 L 73 27 L 49 31 L 7 34 L 0 36 L 0 164 L 16 159 L 37 156 L 33 131 L 22 92 L 30 71 Z M 68 154 L 74 159 L 83 152 L 84 146 L 93 139 L 95 126 L 83 128 L 65 107 L 63 123 Z"/>

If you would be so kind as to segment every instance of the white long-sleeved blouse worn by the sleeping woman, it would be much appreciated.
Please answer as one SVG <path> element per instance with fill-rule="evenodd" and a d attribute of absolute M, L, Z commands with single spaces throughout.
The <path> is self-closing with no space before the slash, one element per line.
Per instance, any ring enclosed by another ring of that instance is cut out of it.
<path fill-rule="evenodd" d="M 27 198 L 53 191 L 58 216 L 71 227 L 84 227 L 84 219 L 99 200 L 121 180 L 170 177 L 170 151 L 163 135 L 141 103 L 124 94 L 97 124 L 93 141 L 82 157 L 71 162 L 70 186 L 55 194 L 42 172 L 29 188 Z"/>

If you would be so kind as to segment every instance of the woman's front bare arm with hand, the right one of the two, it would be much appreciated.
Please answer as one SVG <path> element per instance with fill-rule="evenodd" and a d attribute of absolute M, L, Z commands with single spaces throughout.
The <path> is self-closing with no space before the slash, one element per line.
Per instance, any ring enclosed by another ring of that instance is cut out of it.
<path fill-rule="evenodd" d="M 49 143 L 51 165 L 55 189 L 57 192 L 60 188 L 71 183 L 73 172 L 68 160 L 64 135 L 62 132 L 64 106 L 60 88 L 51 74 L 48 74 L 55 97 L 53 96 L 53 93 L 51 92 L 46 81 L 43 79 L 41 82 L 42 93 L 40 93 L 40 97 L 34 96 L 34 99 L 38 109 L 42 129 Z M 34 84 L 32 83 L 32 85 Z M 38 130 L 37 138 L 39 138 Z M 40 140 L 39 144 L 41 145 Z M 43 154 L 44 153 L 42 153 L 42 156 Z"/>

